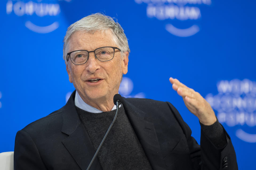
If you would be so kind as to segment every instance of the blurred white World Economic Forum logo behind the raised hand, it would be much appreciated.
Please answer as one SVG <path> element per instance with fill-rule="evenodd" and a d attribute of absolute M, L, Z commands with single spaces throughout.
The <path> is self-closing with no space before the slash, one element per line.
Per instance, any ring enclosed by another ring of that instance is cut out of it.
<path fill-rule="evenodd" d="M 218 94 L 208 94 L 205 99 L 218 111 L 219 122 L 233 127 L 236 125 L 256 126 L 256 82 L 244 79 L 221 80 L 217 83 Z M 237 129 L 235 135 L 250 143 L 256 142 L 256 134 Z"/>

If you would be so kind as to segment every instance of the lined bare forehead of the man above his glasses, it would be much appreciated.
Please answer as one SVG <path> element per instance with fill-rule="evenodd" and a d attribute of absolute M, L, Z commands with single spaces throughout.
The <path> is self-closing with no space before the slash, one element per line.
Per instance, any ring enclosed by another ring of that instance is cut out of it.
<path fill-rule="evenodd" d="M 71 35 L 67 43 L 68 52 L 75 50 L 92 51 L 103 46 L 117 46 L 113 39 L 113 33 L 110 30 L 106 32 L 96 31 L 93 34 L 77 31 Z"/>

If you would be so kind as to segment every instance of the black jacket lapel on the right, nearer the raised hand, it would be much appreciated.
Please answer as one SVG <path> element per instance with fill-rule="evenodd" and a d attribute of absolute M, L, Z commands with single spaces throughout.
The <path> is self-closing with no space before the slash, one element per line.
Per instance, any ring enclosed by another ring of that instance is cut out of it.
<path fill-rule="evenodd" d="M 154 124 L 149 121 L 148 114 L 125 99 L 122 104 L 152 168 L 154 170 L 165 169 L 163 167 L 166 165 L 163 162 Z"/>

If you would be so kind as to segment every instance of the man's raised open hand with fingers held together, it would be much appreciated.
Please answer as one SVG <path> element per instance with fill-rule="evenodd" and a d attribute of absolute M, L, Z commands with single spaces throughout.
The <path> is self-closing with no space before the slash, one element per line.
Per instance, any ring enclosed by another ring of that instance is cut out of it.
<path fill-rule="evenodd" d="M 196 91 L 179 82 L 178 79 L 170 77 L 173 90 L 183 98 L 186 107 L 191 113 L 198 117 L 204 125 L 212 125 L 217 121 L 211 105 Z"/>

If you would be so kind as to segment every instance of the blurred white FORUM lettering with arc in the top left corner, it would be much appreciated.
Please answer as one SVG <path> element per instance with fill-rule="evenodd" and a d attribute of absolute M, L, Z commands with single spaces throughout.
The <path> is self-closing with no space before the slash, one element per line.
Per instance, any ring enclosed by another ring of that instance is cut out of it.
<path fill-rule="evenodd" d="M 29 1 L 7 1 L 6 3 L 6 14 L 11 14 L 12 12 L 17 16 L 31 16 L 36 15 L 38 17 L 43 16 L 57 16 L 60 12 L 60 6 L 58 3 L 41 3 L 42 0 L 38 0 L 37 2 Z M 49 1 L 49 0 L 48 0 Z M 71 0 L 65 0 L 70 2 Z M 57 21 L 47 24 L 45 26 L 39 26 L 27 20 L 25 22 L 25 27 L 30 29 L 31 31 L 37 33 L 49 33 L 56 30 L 59 27 L 59 23 Z"/>

